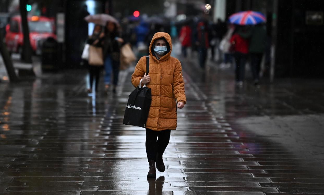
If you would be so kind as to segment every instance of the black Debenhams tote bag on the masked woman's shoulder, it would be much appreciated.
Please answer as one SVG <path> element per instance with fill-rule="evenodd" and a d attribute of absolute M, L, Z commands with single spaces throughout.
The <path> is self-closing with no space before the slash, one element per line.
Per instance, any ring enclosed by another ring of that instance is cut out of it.
<path fill-rule="evenodd" d="M 146 75 L 149 72 L 149 58 L 146 56 Z M 128 96 L 123 124 L 145 127 L 151 101 L 151 89 L 145 85 L 142 88 L 137 86 Z"/>

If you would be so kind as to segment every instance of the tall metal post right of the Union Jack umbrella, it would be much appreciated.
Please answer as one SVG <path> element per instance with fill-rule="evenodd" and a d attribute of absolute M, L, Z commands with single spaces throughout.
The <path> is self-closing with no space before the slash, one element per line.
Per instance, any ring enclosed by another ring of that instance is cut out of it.
<path fill-rule="evenodd" d="M 273 0 L 270 82 L 273 82 L 274 80 L 274 69 L 276 64 L 276 46 L 277 46 L 277 30 L 278 30 L 277 21 L 278 21 L 278 0 Z"/>

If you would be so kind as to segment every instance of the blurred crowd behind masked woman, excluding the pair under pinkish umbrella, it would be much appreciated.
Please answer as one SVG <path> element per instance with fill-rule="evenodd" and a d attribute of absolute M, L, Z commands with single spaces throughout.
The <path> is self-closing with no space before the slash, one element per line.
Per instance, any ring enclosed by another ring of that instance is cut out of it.
<path fill-rule="evenodd" d="M 239 26 L 221 19 L 213 22 L 197 18 L 165 22 L 156 17 L 148 21 L 125 19 L 122 24 L 126 37 L 137 49 L 138 59 L 148 54 L 148 45 L 156 32 L 167 32 L 173 42 L 181 44 L 181 48 L 174 47 L 179 50 L 176 53 L 188 58 L 188 52 L 196 52 L 197 63 L 202 69 L 205 69 L 207 60 L 220 69 L 235 66 L 236 83 L 242 86 L 245 64 L 249 63 L 253 82 L 259 85 L 261 62 L 265 61 L 264 54 L 269 47 L 264 23 Z"/>

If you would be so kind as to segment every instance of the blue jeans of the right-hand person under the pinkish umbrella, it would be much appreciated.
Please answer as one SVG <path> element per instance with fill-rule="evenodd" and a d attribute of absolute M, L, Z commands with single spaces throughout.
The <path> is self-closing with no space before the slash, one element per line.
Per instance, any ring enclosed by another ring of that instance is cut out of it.
<path fill-rule="evenodd" d="M 116 86 L 118 82 L 119 75 L 119 62 L 112 60 L 110 55 L 107 55 L 104 61 L 105 66 L 105 77 L 104 83 L 110 85 L 111 73 L 113 73 L 112 83 Z"/>

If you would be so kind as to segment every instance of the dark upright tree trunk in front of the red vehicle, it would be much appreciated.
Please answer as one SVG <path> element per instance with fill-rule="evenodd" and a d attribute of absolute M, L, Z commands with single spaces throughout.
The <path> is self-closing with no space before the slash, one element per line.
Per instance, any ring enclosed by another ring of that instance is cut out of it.
<path fill-rule="evenodd" d="M 27 21 L 27 10 L 26 10 L 27 1 L 19 0 L 19 10 L 21 16 L 21 26 L 24 35 L 24 42 L 22 46 L 21 59 L 26 63 L 31 63 L 32 49 L 30 47 L 29 41 L 29 28 Z"/>

